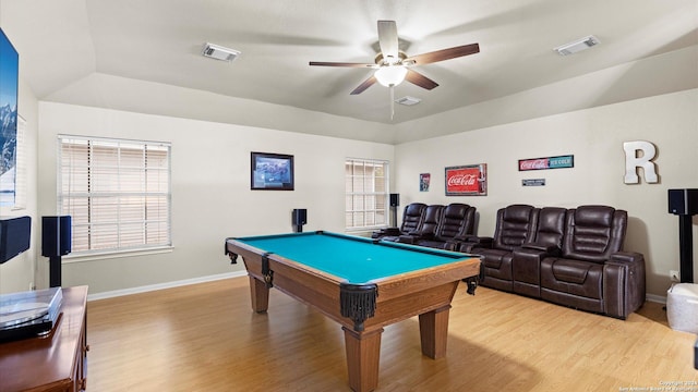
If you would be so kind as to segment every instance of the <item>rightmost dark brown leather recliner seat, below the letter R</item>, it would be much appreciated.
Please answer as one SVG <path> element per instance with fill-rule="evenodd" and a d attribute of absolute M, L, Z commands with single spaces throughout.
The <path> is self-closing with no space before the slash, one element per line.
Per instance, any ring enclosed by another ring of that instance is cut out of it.
<path fill-rule="evenodd" d="M 609 206 L 567 210 L 559 256 L 540 264 L 541 298 L 625 319 L 645 303 L 645 258 L 623 252 L 627 212 Z"/>

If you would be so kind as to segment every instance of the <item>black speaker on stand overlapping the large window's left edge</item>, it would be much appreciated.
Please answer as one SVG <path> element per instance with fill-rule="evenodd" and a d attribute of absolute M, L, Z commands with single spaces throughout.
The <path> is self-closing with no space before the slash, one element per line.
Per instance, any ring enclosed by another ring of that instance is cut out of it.
<path fill-rule="evenodd" d="M 61 286 L 61 256 L 71 253 L 72 219 L 70 216 L 41 217 L 41 256 L 49 259 L 49 286 Z"/>

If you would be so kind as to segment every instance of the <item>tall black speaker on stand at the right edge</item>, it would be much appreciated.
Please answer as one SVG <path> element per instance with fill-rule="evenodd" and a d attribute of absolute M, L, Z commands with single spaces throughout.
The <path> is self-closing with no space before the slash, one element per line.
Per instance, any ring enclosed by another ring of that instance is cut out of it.
<path fill-rule="evenodd" d="M 678 216 L 681 283 L 693 283 L 693 216 L 698 213 L 698 189 L 669 189 L 669 212 Z"/>

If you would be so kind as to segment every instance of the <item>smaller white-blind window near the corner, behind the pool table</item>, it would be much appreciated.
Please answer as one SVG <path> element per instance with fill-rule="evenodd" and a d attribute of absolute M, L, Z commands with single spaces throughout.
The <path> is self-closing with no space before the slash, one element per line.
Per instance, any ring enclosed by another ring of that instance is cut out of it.
<path fill-rule="evenodd" d="M 369 229 L 387 223 L 388 162 L 348 158 L 346 175 L 346 226 Z"/>

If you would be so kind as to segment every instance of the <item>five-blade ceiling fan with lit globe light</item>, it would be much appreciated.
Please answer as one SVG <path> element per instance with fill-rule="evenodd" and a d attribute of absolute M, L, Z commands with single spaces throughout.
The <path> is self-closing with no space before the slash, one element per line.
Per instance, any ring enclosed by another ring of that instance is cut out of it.
<path fill-rule="evenodd" d="M 435 63 L 480 52 L 480 46 L 478 44 L 470 44 L 417 56 L 407 56 L 398 48 L 397 25 L 395 21 L 378 21 L 378 45 L 381 47 L 381 52 L 376 54 L 374 64 L 311 61 L 310 65 L 375 69 L 375 73 L 354 88 L 351 91 L 351 95 L 363 93 L 376 82 L 386 87 L 394 87 L 402 83 L 405 79 L 417 86 L 431 90 L 438 86 L 438 84 L 421 73 L 413 71 L 411 69 L 412 66 Z"/>

